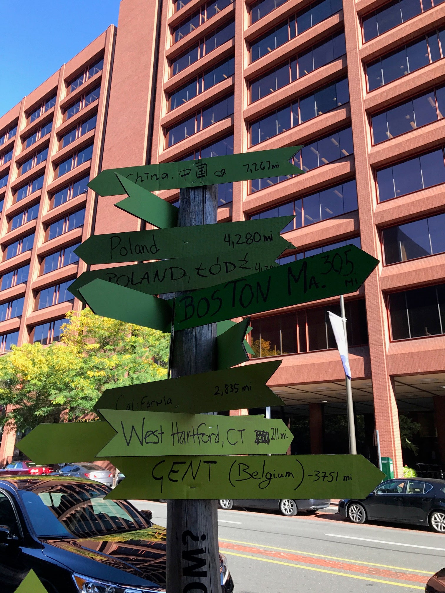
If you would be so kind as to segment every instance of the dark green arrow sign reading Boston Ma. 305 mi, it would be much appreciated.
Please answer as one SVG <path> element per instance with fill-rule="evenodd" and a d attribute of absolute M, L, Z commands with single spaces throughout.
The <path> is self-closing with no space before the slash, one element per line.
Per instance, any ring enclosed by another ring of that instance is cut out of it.
<path fill-rule="evenodd" d="M 182 295 L 176 298 L 174 329 L 355 292 L 378 263 L 365 251 L 348 245 Z"/>

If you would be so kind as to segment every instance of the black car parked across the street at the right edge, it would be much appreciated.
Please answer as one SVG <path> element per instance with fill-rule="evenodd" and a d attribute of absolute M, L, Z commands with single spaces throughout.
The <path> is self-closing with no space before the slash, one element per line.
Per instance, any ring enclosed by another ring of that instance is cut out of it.
<path fill-rule="evenodd" d="M 386 480 L 364 500 L 340 500 L 338 511 L 354 523 L 393 521 L 445 533 L 445 480 Z"/>

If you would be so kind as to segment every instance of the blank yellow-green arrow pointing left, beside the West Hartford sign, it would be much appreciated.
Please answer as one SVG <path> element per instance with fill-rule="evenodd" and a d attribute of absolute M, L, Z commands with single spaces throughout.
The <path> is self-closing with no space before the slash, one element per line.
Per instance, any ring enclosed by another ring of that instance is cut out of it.
<path fill-rule="evenodd" d="M 108 422 L 56 422 L 36 426 L 17 447 L 38 464 L 93 461 L 116 431 Z"/>

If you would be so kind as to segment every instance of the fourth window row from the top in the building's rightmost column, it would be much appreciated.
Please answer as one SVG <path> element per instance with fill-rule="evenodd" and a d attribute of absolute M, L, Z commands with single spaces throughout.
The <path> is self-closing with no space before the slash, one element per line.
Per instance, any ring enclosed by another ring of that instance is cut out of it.
<path fill-rule="evenodd" d="M 380 202 L 440 183 L 445 183 L 445 161 L 441 148 L 377 171 Z"/>

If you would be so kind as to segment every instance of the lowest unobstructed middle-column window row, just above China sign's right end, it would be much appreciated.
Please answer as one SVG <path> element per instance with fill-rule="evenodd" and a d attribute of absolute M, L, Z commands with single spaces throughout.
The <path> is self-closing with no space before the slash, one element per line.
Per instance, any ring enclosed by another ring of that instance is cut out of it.
<path fill-rule="evenodd" d="M 281 107 L 260 117 L 249 125 L 250 146 L 255 146 L 273 136 L 307 122 L 314 117 L 328 113 L 345 103 L 349 103 L 348 79 L 333 82 L 315 93 L 296 100 L 291 105 Z"/>

